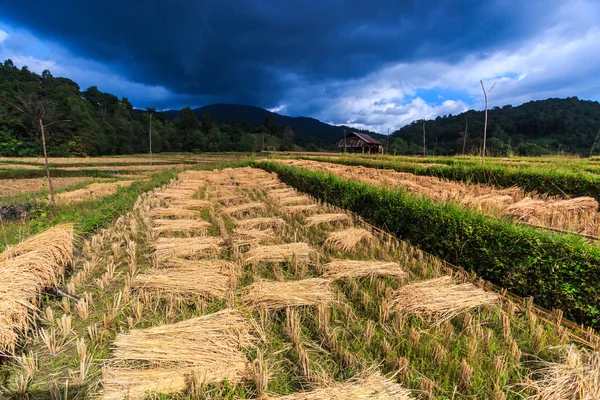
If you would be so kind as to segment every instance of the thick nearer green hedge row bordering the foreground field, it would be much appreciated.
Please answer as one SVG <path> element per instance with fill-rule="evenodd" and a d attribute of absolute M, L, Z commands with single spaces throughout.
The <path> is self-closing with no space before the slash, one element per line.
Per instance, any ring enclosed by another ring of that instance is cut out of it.
<path fill-rule="evenodd" d="M 515 226 L 451 204 L 437 204 L 331 174 L 256 162 L 279 178 L 546 308 L 600 327 L 600 248 L 573 235 Z"/>

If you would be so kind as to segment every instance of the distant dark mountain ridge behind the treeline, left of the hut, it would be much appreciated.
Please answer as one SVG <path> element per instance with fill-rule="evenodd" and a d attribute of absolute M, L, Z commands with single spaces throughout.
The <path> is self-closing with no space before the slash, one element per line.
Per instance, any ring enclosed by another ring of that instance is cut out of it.
<path fill-rule="evenodd" d="M 208 106 L 196 108 L 193 110 L 198 119 L 204 113 L 209 113 L 214 121 L 223 124 L 235 124 L 241 120 L 247 121 L 252 126 L 260 126 L 264 123 L 265 118 L 269 115 L 274 115 L 279 126 L 289 126 L 294 130 L 296 142 L 300 146 L 305 146 L 309 143 L 314 143 L 317 146 L 328 146 L 344 136 L 344 129 L 347 132 L 356 131 L 371 135 L 375 139 L 381 140 L 385 136 L 347 126 L 329 125 L 315 118 L 308 117 L 288 117 L 264 108 L 240 105 L 240 104 L 211 104 Z M 171 117 L 179 115 L 178 110 L 170 110 L 166 112 Z"/>

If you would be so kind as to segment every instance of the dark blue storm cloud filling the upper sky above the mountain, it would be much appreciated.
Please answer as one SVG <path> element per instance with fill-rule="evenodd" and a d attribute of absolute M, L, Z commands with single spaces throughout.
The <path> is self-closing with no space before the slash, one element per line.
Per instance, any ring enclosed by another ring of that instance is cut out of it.
<path fill-rule="evenodd" d="M 301 77 L 510 48 L 552 2 L 4 0 L 0 15 L 134 82 L 185 99 L 277 105 Z M 140 105 L 143 106 L 143 105 Z"/>

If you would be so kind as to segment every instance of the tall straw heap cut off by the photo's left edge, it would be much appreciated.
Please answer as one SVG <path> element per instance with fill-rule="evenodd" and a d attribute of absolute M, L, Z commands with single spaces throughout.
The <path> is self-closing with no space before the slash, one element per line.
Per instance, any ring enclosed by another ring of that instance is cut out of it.
<path fill-rule="evenodd" d="M 1 352 L 14 352 L 18 334 L 35 321 L 38 296 L 44 289 L 57 286 L 57 278 L 73 259 L 72 225 L 49 231 L 56 233 L 52 242 L 47 231 L 32 236 L 0 257 Z"/>

